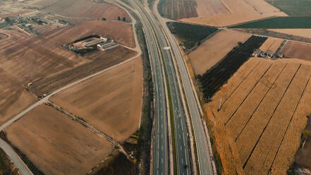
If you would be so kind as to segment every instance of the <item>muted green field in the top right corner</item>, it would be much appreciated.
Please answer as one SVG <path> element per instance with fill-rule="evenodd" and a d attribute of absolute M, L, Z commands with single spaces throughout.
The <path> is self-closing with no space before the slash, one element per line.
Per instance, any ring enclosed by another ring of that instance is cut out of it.
<path fill-rule="evenodd" d="M 265 0 L 289 16 L 311 16 L 310 0 Z"/>

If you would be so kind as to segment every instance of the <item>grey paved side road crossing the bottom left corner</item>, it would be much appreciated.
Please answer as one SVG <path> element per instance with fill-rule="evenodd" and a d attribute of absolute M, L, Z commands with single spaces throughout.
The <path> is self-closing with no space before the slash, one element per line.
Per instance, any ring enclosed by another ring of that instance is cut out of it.
<path fill-rule="evenodd" d="M 18 157 L 16 152 L 14 152 L 13 148 L 8 145 L 4 140 L 0 139 L 0 147 L 2 150 L 6 150 L 6 155 L 10 157 L 12 160 L 13 164 L 18 168 L 18 171 L 22 175 L 33 175 L 30 169 L 24 164 L 23 160 Z"/>

